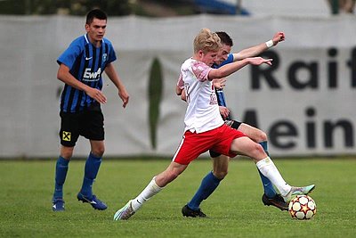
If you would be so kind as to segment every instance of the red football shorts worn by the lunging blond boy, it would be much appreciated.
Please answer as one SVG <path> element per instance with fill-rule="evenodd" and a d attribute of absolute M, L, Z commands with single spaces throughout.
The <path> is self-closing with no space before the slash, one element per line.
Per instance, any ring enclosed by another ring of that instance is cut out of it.
<path fill-rule="evenodd" d="M 242 136 L 246 135 L 225 124 L 198 134 L 188 130 L 182 137 L 181 144 L 179 144 L 178 150 L 174 154 L 173 161 L 187 165 L 208 150 L 213 150 L 231 158 L 235 157 L 237 154 L 230 151 L 231 143 L 234 139 Z"/>

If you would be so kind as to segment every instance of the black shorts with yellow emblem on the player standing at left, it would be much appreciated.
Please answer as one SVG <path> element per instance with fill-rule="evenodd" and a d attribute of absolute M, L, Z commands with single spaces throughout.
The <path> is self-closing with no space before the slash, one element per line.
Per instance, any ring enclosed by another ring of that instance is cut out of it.
<path fill-rule="evenodd" d="M 61 144 L 73 147 L 79 135 L 94 141 L 104 140 L 104 116 L 100 105 L 92 106 L 85 111 L 69 113 L 62 112 L 61 116 Z"/>

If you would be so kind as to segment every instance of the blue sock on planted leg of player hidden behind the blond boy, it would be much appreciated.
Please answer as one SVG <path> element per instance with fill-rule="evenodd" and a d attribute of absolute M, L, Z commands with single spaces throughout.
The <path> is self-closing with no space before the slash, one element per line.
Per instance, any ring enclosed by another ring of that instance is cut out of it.
<path fill-rule="evenodd" d="M 220 181 L 220 179 L 214 176 L 213 172 L 209 172 L 201 181 L 197 193 L 195 193 L 191 201 L 188 202 L 188 207 L 194 210 L 199 209 L 200 203 L 214 192 L 220 184 Z"/>

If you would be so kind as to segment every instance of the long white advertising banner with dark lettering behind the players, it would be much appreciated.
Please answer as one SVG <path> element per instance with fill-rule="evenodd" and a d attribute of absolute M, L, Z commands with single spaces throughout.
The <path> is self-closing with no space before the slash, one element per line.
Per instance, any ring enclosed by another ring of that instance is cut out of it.
<path fill-rule="evenodd" d="M 0 16 L 0 158 L 58 156 L 62 83 L 56 78 L 56 59 L 85 33 L 84 21 Z M 231 75 L 225 87 L 233 118 L 263 129 L 272 156 L 356 154 L 355 26 L 356 19 L 348 16 L 109 18 L 107 37 L 130 102 L 122 108 L 116 87 L 104 75 L 105 154 L 174 154 L 185 112 L 174 88 L 202 28 L 229 33 L 233 52 L 285 32 L 285 42 L 263 53 L 273 59 L 271 67 L 247 66 Z M 152 131 L 149 88 L 155 60 L 162 91 Z M 89 143 L 81 138 L 75 155 L 88 152 Z"/>

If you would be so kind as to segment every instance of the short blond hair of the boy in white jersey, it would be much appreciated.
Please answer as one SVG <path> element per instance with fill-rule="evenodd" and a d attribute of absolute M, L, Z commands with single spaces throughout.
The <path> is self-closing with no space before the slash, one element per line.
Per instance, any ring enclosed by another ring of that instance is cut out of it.
<path fill-rule="evenodd" d="M 197 37 L 194 38 L 194 53 L 201 50 L 203 53 L 217 52 L 222 48 L 220 37 L 210 29 L 201 29 Z"/>

